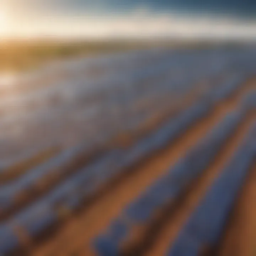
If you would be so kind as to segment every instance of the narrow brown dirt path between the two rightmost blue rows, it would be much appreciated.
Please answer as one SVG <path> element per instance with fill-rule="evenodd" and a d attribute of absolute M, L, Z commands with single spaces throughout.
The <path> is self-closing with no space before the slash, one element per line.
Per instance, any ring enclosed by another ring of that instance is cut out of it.
<path fill-rule="evenodd" d="M 220 174 L 234 155 L 243 138 L 246 136 L 247 131 L 251 128 L 255 118 L 255 114 L 250 115 L 246 118 L 245 122 L 240 124 L 232 138 L 230 138 L 228 143 L 220 150 L 212 165 L 206 169 L 203 175 L 199 177 L 198 181 L 193 184 L 193 188 L 188 191 L 186 198 L 180 202 L 180 205 L 172 212 L 169 219 L 164 222 L 162 230 L 155 236 L 155 241 L 151 244 L 151 247 L 146 253 L 147 256 L 166 255 L 167 250 L 175 241 L 178 233 L 181 231 L 194 209 L 198 206 L 214 179 Z"/>

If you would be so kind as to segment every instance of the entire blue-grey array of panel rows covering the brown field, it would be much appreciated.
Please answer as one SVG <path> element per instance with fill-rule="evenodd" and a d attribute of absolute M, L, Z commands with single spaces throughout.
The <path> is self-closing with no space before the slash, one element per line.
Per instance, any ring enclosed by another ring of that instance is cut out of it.
<path fill-rule="evenodd" d="M 0 255 L 29 255 L 27 241 L 51 240 L 67 216 L 243 90 L 255 57 L 249 48 L 145 50 L 54 63 L 1 88 Z M 255 89 L 91 240 L 96 254 L 140 253 L 161 213 L 255 113 Z M 199 255 L 218 243 L 255 142 L 254 125 L 168 255 Z"/>

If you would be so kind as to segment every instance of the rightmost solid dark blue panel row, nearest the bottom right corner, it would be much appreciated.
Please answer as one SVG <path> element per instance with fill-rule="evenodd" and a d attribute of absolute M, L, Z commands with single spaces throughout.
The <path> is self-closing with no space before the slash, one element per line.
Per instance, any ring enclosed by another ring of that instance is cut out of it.
<path fill-rule="evenodd" d="M 253 129 L 252 132 L 254 132 Z M 170 249 L 169 255 L 186 255 L 183 254 L 184 251 L 190 251 L 191 255 L 197 255 L 198 247 L 202 249 L 206 245 L 213 246 L 218 241 L 236 194 L 256 156 L 256 148 L 251 143 L 250 137 L 251 134 L 230 164 L 215 180 L 181 231 Z M 191 248 L 190 241 L 196 241 L 197 247 Z"/>

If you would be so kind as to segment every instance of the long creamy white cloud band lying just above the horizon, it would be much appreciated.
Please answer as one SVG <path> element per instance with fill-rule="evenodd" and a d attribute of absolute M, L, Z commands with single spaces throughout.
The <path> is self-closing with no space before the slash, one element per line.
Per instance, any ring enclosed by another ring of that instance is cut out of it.
<path fill-rule="evenodd" d="M 1 17 L 1 15 L 0 15 Z M 129 14 L 54 16 L 13 20 L 9 36 L 244 38 L 256 40 L 256 22 L 217 16 L 154 13 L 138 6 Z"/>

